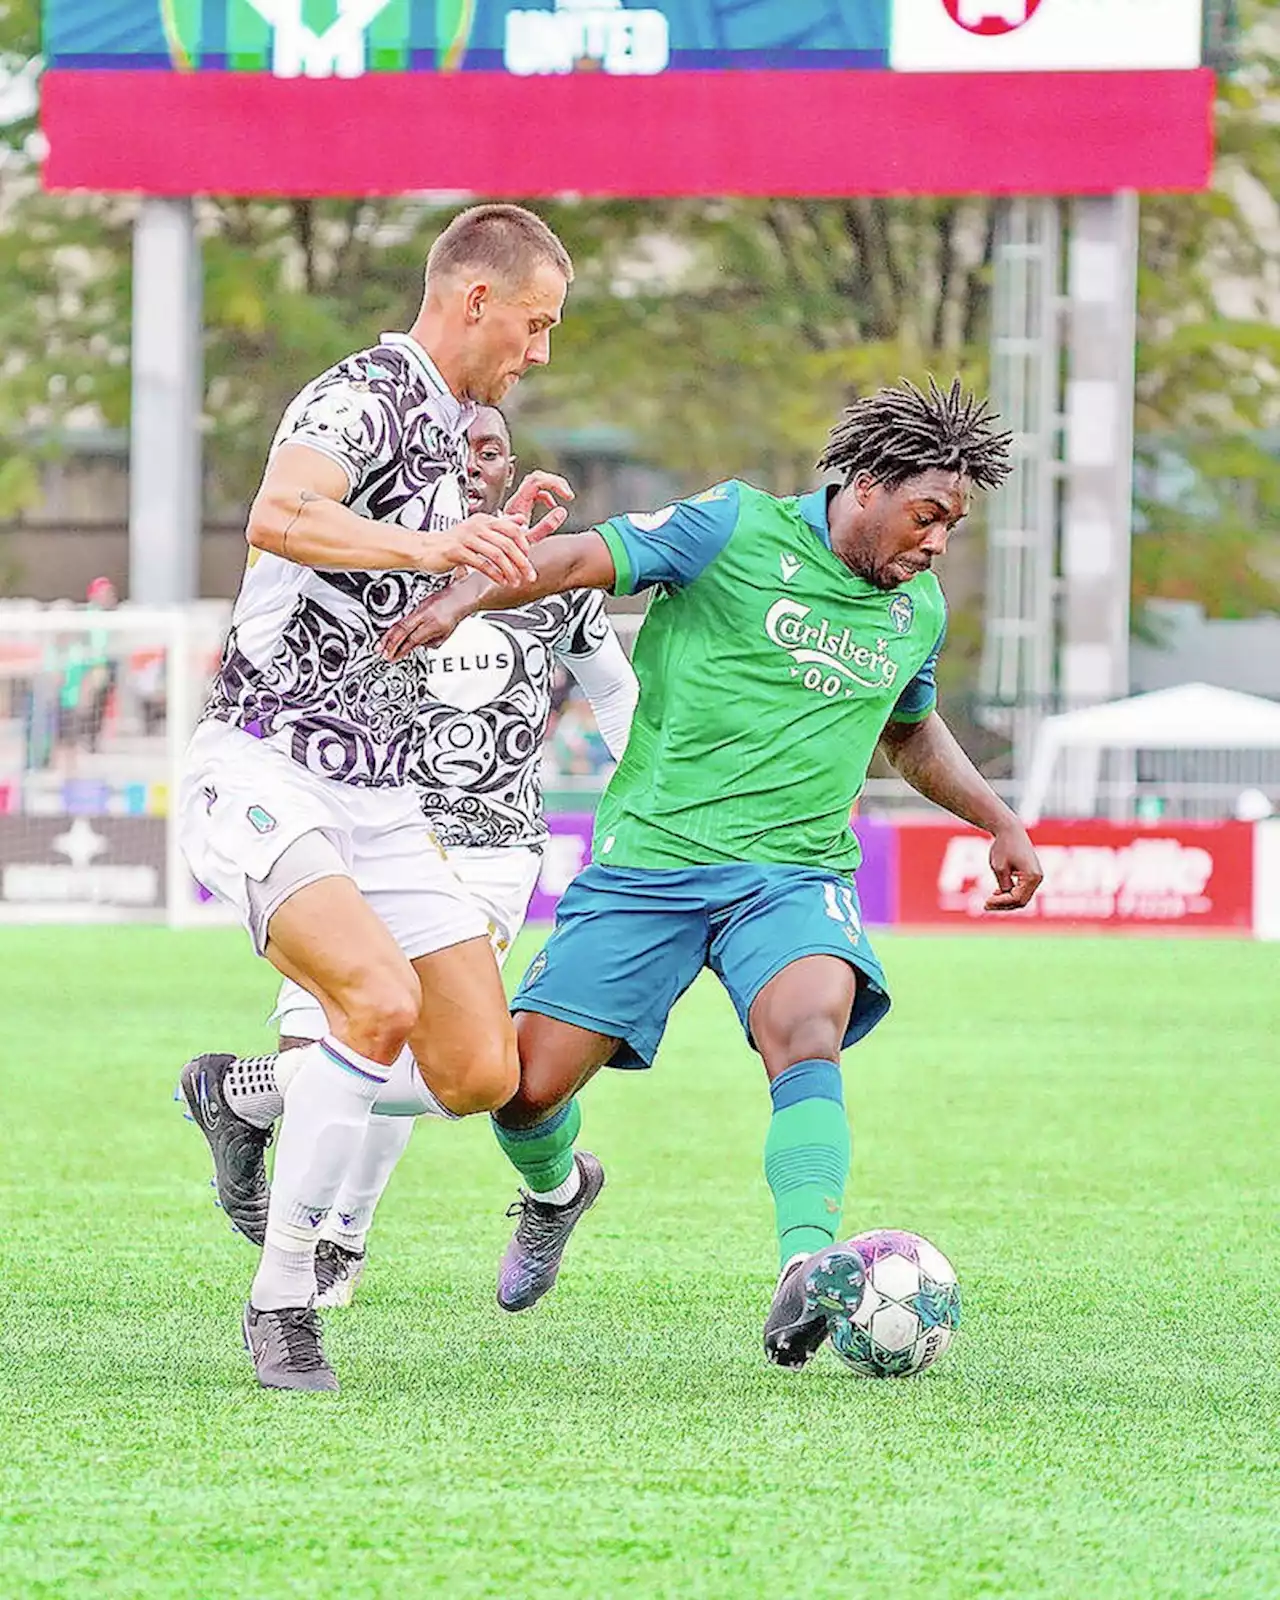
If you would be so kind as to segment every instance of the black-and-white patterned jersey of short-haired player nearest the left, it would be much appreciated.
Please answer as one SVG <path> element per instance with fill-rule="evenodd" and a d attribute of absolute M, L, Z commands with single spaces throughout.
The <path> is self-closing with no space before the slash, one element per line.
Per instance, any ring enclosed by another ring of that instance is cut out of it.
<path fill-rule="evenodd" d="M 464 517 L 474 416 L 426 350 L 390 333 L 307 384 L 272 451 L 307 445 L 342 467 L 354 512 L 437 531 Z M 424 731 L 414 714 L 429 701 L 427 662 L 418 651 L 390 664 L 376 646 L 443 582 L 414 571 L 318 571 L 254 552 L 205 718 L 243 728 L 325 778 L 406 782 Z"/>

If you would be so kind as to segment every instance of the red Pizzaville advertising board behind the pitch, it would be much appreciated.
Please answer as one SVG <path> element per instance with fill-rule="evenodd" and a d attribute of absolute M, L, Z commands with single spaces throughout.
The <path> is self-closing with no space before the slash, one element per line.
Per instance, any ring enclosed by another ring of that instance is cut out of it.
<path fill-rule="evenodd" d="M 966 827 L 899 829 L 898 920 L 907 926 L 1168 930 L 1253 926 L 1253 827 L 1248 822 L 1042 822 L 1032 830 L 1045 882 L 1024 912 L 994 917 L 990 840 Z"/>

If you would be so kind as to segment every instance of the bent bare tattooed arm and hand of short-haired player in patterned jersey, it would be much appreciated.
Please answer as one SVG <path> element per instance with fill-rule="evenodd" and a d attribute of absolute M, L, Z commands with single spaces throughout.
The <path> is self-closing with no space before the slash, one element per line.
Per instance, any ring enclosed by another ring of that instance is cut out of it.
<path fill-rule="evenodd" d="M 440 533 L 373 522 L 344 506 L 350 485 L 336 461 L 307 445 L 282 445 L 267 464 L 245 538 L 299 566 L 334 571 L 448 573 L 472 566 L 494 582 L 536 576 L 528 526 L 510 517 L 467 517 Z"/>

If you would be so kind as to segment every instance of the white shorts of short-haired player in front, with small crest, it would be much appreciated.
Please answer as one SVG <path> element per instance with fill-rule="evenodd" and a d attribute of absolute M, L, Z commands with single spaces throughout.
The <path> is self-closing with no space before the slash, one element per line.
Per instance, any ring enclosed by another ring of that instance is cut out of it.
<path fill-rule="evenodd" d="M 320 838 L 291 854 L 314 862 L 310 875 L 275 883 L 272 869 L 306 835 Z M 197 883 L 240 914 L 259 955 L 288 894 L 334 870 L 354 880 L 410 960 L 488 934 L 413 789 L 317 778 L 227 723 L 202 723 L 187 746 L 178 843 Z"/>

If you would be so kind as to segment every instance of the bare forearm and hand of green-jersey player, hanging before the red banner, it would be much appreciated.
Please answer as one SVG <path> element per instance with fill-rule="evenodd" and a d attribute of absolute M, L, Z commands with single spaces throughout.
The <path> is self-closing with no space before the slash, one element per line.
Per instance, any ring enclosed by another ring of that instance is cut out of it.
<path fill-rule="evenodd" d="M 990 869 L 998 885 L 987 910 L 1021 910 L 1043 882 L 1035 846 L 936 710 L 922 722 L 891 722 L 880 746 L 907 782 L 934 805 L 992 835 Z"/>

